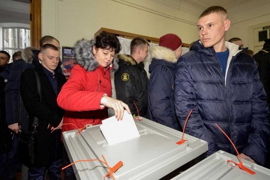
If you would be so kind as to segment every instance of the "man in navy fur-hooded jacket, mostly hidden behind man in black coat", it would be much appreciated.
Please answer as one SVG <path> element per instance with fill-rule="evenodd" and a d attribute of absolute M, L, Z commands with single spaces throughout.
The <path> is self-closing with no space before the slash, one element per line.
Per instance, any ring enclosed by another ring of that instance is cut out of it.
<path fill-rule="evenodd" d="M 39 41 L 40 47 L 44 44 L 53 44 L 58 49 L 60 49 L 59 41 L 52 36 L 44 36 Z M 26 69 L 37 67 L 40 65 L 38 59 L 38 54 L 40 50 L 35 47 L 27 47 L 23 49 L 21 55 L 22 58 L 16 61 L 13 61 L 10 68 L 10 73 L 7 77 L 7 84 L 5 86 L 5 104 L 6 104 L 6 121 L 8 128 L 17 134 L 19 132 L 19 84 L 22 72 Z M 56 70 L 62 73 L 61 69 L 62 62 L 59 61 Z M 23 108 L 23 122 L 27 121 L 28 113 Z M 22 127 L 25 128 L 25 127 Z M 16 167 L 19 166 L 19 160 L 17 160 L 17 145 L 18 138 L 16 135 L 13 136 L 11 142 L 11 147 L 9 152 L 7 152 L 7 161 L 5 164 L 4 176 L 8 179 L 15 178 Z M 22 180 L 28 179 L 28 168 L 22 164 Z"/>

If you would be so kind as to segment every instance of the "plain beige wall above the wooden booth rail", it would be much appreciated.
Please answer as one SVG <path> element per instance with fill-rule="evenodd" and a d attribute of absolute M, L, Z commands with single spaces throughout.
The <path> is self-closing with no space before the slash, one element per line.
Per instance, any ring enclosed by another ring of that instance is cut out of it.
<path fill-rule="evenodd" d="M 142 4 L 148 1 L 138 2 Z M 151 4 L 145 4 L 148 5 Z M 176 10 L 164 8 L 158 3 L 152 8 L 159 12 L 164 10 L 161 13 L 176 14 Z M 194 23 L 149 11 L 113 0 L 42 0 L 42 35 L 58 38 L 63 46 L 73 46 L 79 38 L 93 38 L 101 27 L 155 38 L 175 33 L 184 43 L 198 39 Z M 197 15 L 190 17 L 194 19 Z"/>

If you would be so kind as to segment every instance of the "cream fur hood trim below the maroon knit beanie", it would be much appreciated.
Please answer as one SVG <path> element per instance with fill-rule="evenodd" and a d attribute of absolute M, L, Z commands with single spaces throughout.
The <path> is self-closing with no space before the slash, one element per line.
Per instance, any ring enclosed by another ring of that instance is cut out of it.
<path fill-rule="evenodd" d="M 150 49 L 151 58 L 165 60 L 171 63 L 176 63 L 177 59 L 175 53 L 167 48 L 162 46 L 152 46 Z"/>

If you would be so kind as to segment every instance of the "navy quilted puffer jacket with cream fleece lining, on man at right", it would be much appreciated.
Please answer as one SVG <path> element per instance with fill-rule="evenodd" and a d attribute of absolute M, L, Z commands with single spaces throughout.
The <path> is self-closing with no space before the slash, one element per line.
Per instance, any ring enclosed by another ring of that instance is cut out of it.
<path fill-rule="evenodd" d="M 229 57 L 226 76 L 213 47 L 199 41 L 177 61 L 175 108 L 185 133 L 208 142 L 208 155 L 219 149 L 236 154 L 217 123 L 239 153 L 259 165 L 265 163 L 269 134 L 266 94 L 254 59 L 226 41 Z"/>

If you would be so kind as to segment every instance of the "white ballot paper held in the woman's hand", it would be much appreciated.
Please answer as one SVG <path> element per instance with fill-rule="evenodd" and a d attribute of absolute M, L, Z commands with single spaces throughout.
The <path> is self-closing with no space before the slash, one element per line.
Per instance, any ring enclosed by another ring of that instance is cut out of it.
<path fill-rule="evenodd" d="M 100 128 L 109 145 L 140 137 L 132 115 L 128 114 L 126 110 L 122 121 L 120 119 L 117 121 L 116 117 L 113 116 L 104 119 Z"/>

